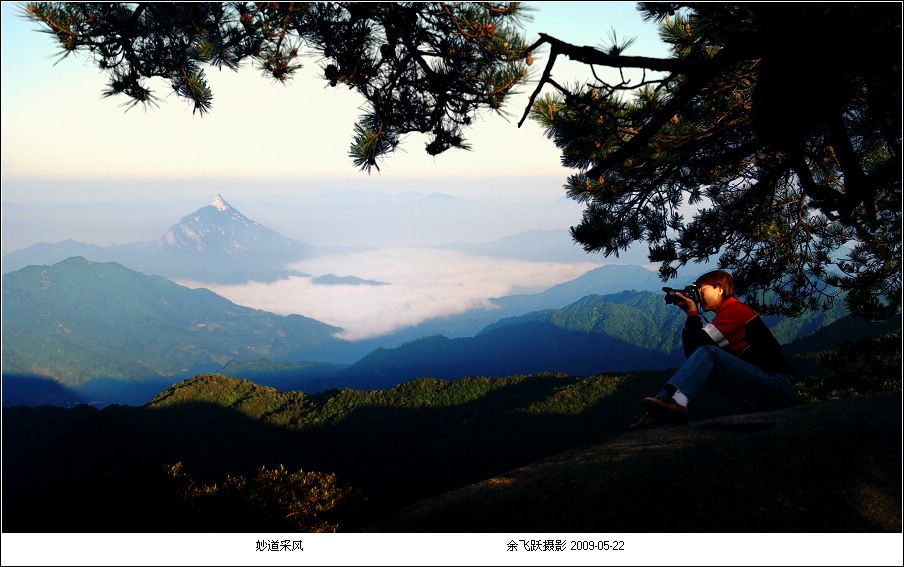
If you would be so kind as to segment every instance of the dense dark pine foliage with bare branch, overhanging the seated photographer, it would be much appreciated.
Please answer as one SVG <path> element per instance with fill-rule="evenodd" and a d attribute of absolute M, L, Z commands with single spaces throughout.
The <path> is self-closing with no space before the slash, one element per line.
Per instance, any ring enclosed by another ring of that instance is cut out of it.
<path fill-rule="evenodd" d="M 607 255 L 644 240 L 663 278 L 720 256 L 766 312 L 825 306 L 839 292 L 858 314 L 898 311 L 899 7 L 640 9 L 672 57 L 542 35 L 531 48 L 550 46 L 529 110 L 577 170 L 566 185 L 586 204 L 575 239 Z M 560 55 L 645 75 L 562 86 L 551 75 Z M 555 94 L 539 96 L 547 85 Z"/>

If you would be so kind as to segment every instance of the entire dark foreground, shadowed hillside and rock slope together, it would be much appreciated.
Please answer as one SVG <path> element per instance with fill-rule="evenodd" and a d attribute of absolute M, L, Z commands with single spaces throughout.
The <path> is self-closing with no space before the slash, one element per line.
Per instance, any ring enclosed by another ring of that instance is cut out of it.
<path fill-rule="evenodd" d="M 255 531 L 257 500 L 198 508 L 185 487 L 283 466 L 351 490 L 330 519 L 342 531 L 900 529 L 899 392 L 716 420 L 737 408 L 704 393 L 690 427 L 626 433 L 664 378 L 420 379 L 307 395 L 208 375 L 142 408 L 9 408 L 4 530 Z M 676 508 L 650 518 L 664 498 Z"/>

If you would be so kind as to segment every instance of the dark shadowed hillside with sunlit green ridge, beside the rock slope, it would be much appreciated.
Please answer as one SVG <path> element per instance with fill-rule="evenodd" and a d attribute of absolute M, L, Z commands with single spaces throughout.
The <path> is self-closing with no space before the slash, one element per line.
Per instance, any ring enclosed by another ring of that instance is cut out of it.
<path fill-rule="evenodd" d="M 172 520 L 173 510 L 189 503 L 160 496 L 176 490 L 167 471 L 180 464 L 180 474 L 202 486 L 284 467 L 335 474 L 336 487 L 353 489 L 351 511 L 336 520 L 351 529 L 598 441 L 630 422 L 638 397 L 661 378 L 420 379 L 307 395 L 203 375 L 142 408 L 8 408 L 4 518 L 12 531 L 68 531 L 75 521 L 90 531 L 219 531 L 222 521 L 208 523 L 204 514 L 185 516 L 192 525 Z M 57 513 L 41 512 L 51 505 Z M 134 507 L 145 512 L 135 515 Z M 236 510 L 224 514 L 233 531 L 257 529 Z"/>

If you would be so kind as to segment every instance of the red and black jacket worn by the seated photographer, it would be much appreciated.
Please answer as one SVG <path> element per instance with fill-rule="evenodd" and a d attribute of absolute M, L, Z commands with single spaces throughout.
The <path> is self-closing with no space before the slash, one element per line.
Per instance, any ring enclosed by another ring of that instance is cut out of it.
<path fill-rule="evenodd" d="M 766 372 L 794 374 L 781 346 L 756 312 L 729 297 L 722 303 L 712 323 L 703 324 L 699 315 L 689 315 L 681 333 L 685 356 L 705 345 L 716 345 Z"/>

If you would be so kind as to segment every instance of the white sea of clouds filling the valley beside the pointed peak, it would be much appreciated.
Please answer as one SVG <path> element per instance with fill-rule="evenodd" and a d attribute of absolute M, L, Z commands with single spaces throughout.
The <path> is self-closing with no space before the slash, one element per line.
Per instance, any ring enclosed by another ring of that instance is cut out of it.
<path fill-rule="evenodd" d="M 354 341 L 428 319 L 489 308 L 490 298 L 544 289 L 598 264 L 500 260 L 435 248 L 385 248 L 323 256 L 292 267 L 312 277 L 336 274 L 390 285 L 317 285 L 312 277 L 244 285 L 186 285 L 206 287 L 239 305 L 312 317 L 342 327 L 340 337 Z"/>

